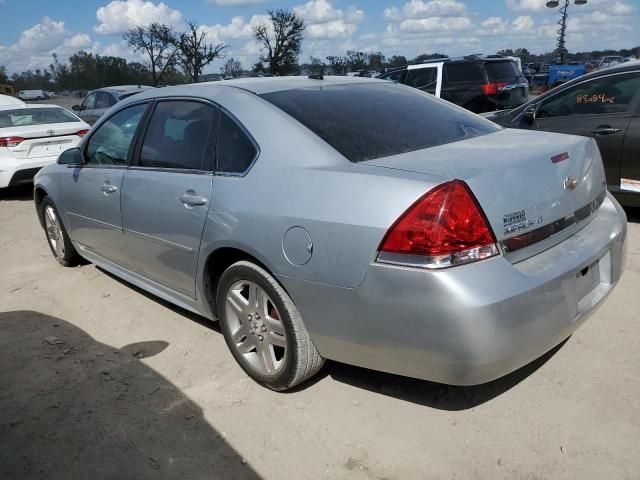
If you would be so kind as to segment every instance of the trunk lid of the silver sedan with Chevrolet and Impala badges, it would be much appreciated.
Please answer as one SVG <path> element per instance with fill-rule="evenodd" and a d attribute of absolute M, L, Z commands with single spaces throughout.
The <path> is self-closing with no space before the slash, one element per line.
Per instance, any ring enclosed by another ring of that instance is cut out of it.
<path fill-rule="evenodd" d="M 595 142 L 547 132 L 504 129 L 363 163 L 464 180 L 514 261 L 575 232 L 606 192 Z"/>

